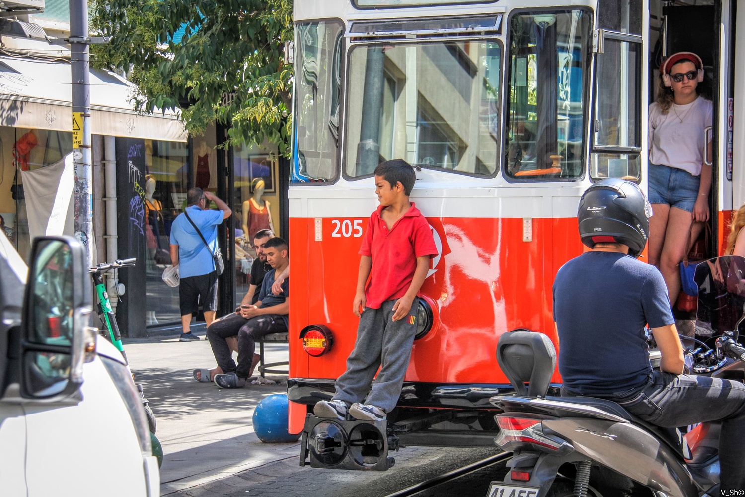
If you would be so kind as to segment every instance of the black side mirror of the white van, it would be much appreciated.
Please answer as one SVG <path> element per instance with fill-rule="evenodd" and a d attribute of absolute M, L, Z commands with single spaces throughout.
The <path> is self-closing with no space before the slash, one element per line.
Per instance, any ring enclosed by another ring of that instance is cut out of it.
<path fill-rule="evenodd" d="M 83 384 L 86 350 L 92 347 L 86 260 L 75 238 L 34 238 L 22 320 L 20 387 L 25 399 L 59 402 Z"/>

